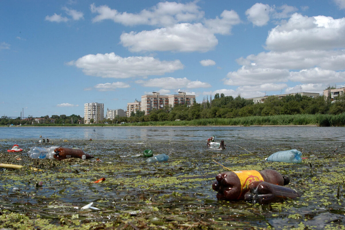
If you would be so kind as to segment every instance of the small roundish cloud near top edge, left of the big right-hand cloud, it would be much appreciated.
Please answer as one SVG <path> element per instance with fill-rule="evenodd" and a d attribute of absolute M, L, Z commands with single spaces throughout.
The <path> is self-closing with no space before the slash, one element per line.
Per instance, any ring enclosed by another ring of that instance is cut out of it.
<path fill-rule="evenodd" d="M 269 21 L 269 14 L 273 11 L 273 8 L 267 4 L 255 3 L 246 10 L 246 16 L 255 26 L 264 26 Z"/>

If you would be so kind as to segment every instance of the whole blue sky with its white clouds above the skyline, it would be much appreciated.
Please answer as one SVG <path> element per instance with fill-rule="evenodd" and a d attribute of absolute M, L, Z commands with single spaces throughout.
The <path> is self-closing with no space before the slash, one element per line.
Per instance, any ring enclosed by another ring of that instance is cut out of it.
<path fill-rule="evenodd" d="M 345 86 L 345 0 L 12 0 L 0 20 L 0 116 Z"/>

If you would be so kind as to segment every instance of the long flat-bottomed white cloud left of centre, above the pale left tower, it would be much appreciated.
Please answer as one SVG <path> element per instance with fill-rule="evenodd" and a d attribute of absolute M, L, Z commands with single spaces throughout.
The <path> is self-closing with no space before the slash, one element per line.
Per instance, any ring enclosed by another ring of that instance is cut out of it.
<path fill-rule="evenodd" d="M 81 68 L 86 75 L 102 78 L 162 75 L 183 69 L 183 64 L 179 60 L 160 61 L 153 57 L 122 58 L 114 52 L 88 54 L 67 64 Z"/>

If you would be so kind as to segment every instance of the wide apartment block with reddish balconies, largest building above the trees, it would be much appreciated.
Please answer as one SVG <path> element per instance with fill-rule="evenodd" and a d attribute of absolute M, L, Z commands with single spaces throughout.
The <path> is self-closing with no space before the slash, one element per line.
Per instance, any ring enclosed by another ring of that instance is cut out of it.
<path fill-rule="evenodd" d="M 145 111 L 145 115 L 149 114 L 152 109 L 162 109 L 166 105 L 186 104 L 187 106 L 193 105 L 195 95 L 187 95 L 185 92 L 178 92 L 172 95 L 160 95 L 158 92 L 146 94 L 141 96 L 141 110 Z"/>

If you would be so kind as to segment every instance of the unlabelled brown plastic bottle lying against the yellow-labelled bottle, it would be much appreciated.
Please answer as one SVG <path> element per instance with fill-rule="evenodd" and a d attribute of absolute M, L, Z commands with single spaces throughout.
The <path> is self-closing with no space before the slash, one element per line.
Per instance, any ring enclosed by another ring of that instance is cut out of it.
<path fill-rule="evenodd" d="M 248 189 L 249 191 L 244 194 L 244 200 L 253 204 L 268 204 L 286 198 L 300 197 L 299 192 L 294 189 L 264 181 L 252 182 L 249 184 Z"/>

